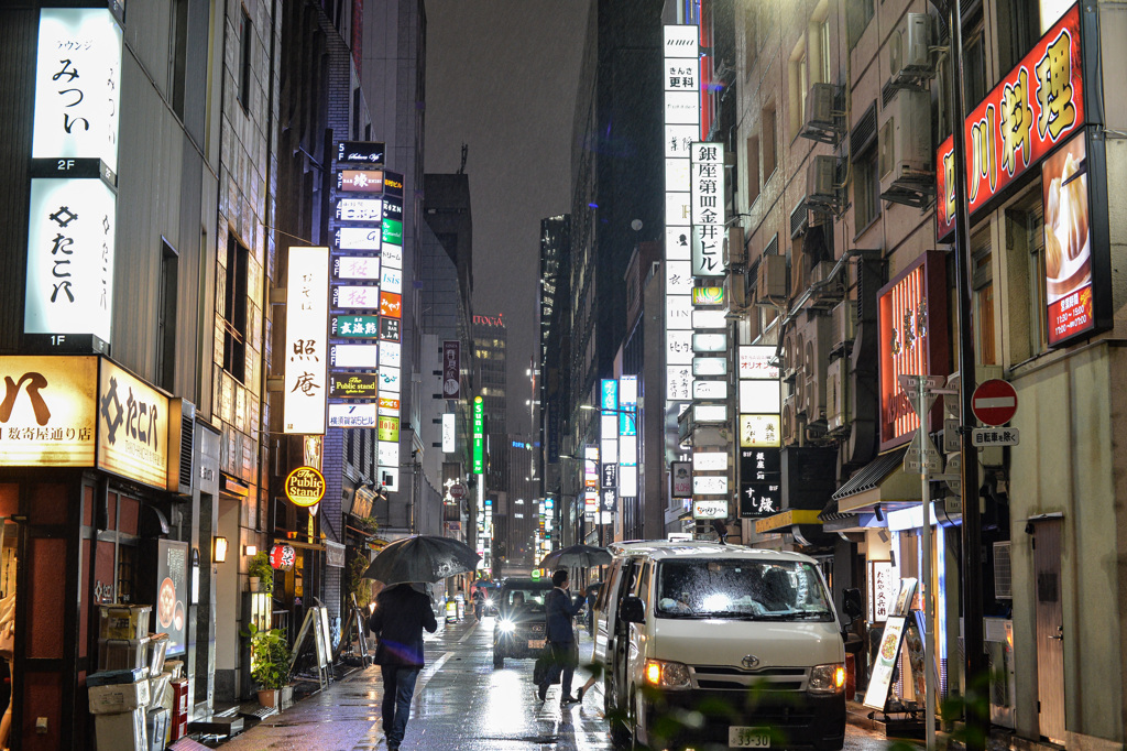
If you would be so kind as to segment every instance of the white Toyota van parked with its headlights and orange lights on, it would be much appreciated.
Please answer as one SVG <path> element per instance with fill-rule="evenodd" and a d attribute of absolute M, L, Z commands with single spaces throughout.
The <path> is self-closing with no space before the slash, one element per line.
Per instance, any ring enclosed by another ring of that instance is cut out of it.
<path fill-rule="evenodd" d="M 814 558 L 707 541 L 610 550 L 595 659 L 616 741 L 844 745 L 842 627 Z"/>

